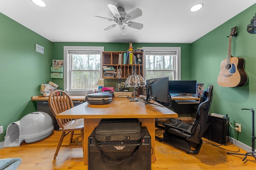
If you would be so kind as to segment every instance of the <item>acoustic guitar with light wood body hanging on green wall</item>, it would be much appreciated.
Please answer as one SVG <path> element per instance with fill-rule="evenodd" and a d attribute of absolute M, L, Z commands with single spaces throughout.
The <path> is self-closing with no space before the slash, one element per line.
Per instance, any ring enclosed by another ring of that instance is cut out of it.
<path fill-rule="evenodd" d="M 242 87 L 248 81 L 244 70 L 244 58 L 231 55 L 232 37 L 236 36 L 236 27 L 230 31 L 228 40 L 228 57 L 220 63 L 220 73 L 217 78 L 218 85 L 222 87 Z"/>

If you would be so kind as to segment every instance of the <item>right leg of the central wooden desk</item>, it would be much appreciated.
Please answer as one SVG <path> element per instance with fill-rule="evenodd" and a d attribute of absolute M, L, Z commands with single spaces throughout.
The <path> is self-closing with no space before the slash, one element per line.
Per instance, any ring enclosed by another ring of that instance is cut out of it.
<path fill-rule="evenodd" d="M 151 163 L 155 163 L 155 118 L 139 118 L 142 122 L 143 127 L 147 127 L 148 132 L 151 136 L 151 147 L 153 148 L 153 154 L 151 155 Z"/>

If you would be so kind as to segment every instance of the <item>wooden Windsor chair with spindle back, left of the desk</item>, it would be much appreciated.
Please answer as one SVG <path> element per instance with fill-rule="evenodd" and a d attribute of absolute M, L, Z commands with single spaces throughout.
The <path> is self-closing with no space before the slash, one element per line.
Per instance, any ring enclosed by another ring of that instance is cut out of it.
<path fill-rule="evenodd" d="M 56 118 L 56 115 L 62 113 L 72 107 L 74 107 L 72 99 L 70 96 L 62 91 L 56 90 L 50 93 L 48 98 L 49 107 Z M 81 145 L 62 145 L 62 141 L 64 137 L 71 132 L 70 142 L 73 140 L 74 131 L 81 131 L 81 139 L 82 139 L 82 148 L 84 151 L 84 119 L 56 119 L 59 125 L 60 131 L 62 131 L 62 135 L 60 136 L 60 141 L 56 148 L 54 159 L 58 155 L 60 150 L 60 146 L 64 147 L 81 147 Z"/>

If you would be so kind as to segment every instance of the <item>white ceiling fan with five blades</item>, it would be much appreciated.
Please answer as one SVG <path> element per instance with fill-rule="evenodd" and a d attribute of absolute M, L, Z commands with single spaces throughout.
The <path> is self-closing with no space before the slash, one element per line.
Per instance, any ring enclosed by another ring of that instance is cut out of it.
<path fill-rule="evenodd" d="M 127 27 L 130 28 L 135 28 L 138 30 L 141 30 L 143 28 L 143 24 L 137 23 L 137 22 L 132 22 L 131 20 L 138 18 L 140 16 L 142 16 L 142 10 L 140 10 L 139 8 L 136 8 L 135 10 L 133 10 L 132 12 L 129 12 L 128 14 L 124 11 L 124 8 L 117 8 L 115 5 L 113 4 L 108 4 L 108 8 L 110 9 L 110 11 L 112 12 L 113 19 L 110 18 L 104 18 L 101 16 L 94 16 L 97 18 L 103 18 L 106 19 L 108 21 L 114 21 L 116 22 L 116 24 L 113 24 L 107 28 L 105 28 L 104 30 L 110 30 L 116 26 L 119 26 L 120 31 L 122 33 L 122 35 L 126 35 L 128 34 L 128 30 Z"/>

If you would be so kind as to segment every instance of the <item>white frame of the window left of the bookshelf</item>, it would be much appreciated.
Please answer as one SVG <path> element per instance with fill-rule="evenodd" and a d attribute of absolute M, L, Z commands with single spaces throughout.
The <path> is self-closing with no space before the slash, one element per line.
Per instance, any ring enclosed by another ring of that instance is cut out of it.
<path fill-rule="evenodd" d="M 70 61 L 68 58 L 68 51 L 100 51 L 100 65 L 102 65 L 102 51 L 104 51 L 104 47 L 101 46 L 64 46 L 64 89 L 68 90 L 69 95 L 85 95 L 85 90 L 70 90 Z M 102 67 L 100 68 L 100 78 L 102 77 Z"/>

